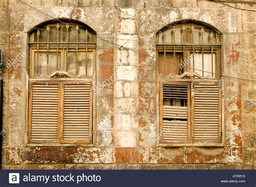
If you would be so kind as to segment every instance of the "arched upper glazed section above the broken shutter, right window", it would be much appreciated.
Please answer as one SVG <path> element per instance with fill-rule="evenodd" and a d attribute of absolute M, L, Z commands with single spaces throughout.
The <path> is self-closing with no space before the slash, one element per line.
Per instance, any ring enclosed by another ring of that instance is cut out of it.
<path fill-rule="evenodd" d="M 220 78 L 220 32 L 198 24 L 175 24 L 157 33 L 160 77 L 196 72 Z"/>

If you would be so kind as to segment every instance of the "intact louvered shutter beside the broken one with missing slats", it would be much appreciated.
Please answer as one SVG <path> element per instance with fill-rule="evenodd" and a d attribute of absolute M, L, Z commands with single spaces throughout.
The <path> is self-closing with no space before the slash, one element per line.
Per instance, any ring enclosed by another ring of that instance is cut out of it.
<path fill-rule="evenodd" d="M 192 141 L 221 143 L 220 82 L 194 82 Z"/>

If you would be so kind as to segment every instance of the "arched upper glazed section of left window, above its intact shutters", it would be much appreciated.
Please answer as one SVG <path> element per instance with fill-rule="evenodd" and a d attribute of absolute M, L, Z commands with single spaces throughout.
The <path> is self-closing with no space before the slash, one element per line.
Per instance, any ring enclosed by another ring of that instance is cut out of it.
<path fill-rule="evenodd" d="M 49 78 L 56 71 L 92 78 L 95 33 L 84 25 L 53 23 L 30 35 L 30 77 Z"/>

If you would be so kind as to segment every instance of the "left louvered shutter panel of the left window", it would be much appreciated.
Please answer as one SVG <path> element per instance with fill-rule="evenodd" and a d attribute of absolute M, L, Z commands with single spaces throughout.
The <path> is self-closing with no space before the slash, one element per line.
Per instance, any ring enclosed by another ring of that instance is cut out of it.
<path fill-rule="evenodd" d="M 30 82 L 29 142 L 57 142 L 58 83 Z"/>

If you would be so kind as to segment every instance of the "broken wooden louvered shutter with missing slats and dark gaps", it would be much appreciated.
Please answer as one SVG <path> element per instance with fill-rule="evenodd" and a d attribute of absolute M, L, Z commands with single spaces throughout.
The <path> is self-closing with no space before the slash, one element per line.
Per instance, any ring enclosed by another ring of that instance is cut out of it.
<path fill-rule="evenodd" d="M 190 83 L 160 82 L 160 143 L 190 142 Z"/>

